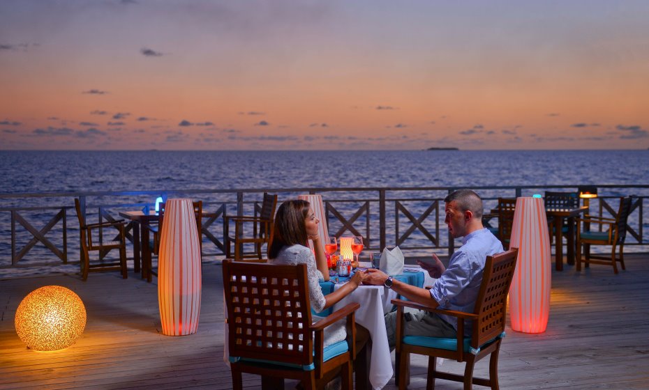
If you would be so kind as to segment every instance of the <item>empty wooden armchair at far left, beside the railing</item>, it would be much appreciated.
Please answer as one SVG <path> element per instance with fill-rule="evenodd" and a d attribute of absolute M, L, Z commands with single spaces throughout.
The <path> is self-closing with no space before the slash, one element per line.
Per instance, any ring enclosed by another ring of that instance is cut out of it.
<path fill-rule="evenodd" d="M 117 221 L 87 224 L 86 216 L 81 210 L 79 198 L 75 198 L 75 209 L 77 210 L 77 218 L 79 219 L 81 278 L 83 280 L 88 279 L 88 272 L 119 270 L 121 276 L 126 279 L 128 277 L 128 272 L 126 271 L 126 222 L 123 219 L 119 219 Z M 103 241 L 98 237 L 95 237 L 95 240 L 93 240 L 92 231 L 98 230 L 101 232 L 104 228 L 116 228 L 119 231 L 119 235 L 115 237 L 117 240 Z M 119 260 L 104 261 L 104 256 L 112 249 L 119 249 Z M 98 251 L 98 263 L 90 263 L 90 251 Z"/>

